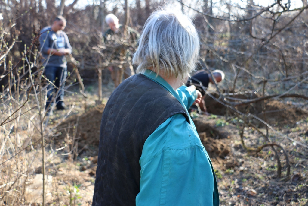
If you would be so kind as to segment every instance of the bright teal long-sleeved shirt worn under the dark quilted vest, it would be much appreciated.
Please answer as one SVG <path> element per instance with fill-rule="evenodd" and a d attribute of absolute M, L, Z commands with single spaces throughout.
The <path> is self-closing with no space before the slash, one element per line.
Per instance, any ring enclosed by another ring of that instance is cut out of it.
<path fill-rule="evenodd" d="M 197 98 L 196 91 L 186 86 L 175 91 L 150 70 L 144 75 L 168 90 L 186 110 Z M 173 115 L 145 141 L 139 161 L 137 206 L 213 205 L 217 183 L 212 163 L 191 119 L 190 122 L 182 114 Z"/>

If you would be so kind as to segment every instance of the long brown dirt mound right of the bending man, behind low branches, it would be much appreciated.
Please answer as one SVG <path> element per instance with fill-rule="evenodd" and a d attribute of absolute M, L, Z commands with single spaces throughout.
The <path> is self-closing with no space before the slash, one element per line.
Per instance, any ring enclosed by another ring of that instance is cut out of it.
<path fill-rule="evenodd" d="M 238 99 L 245 99 L 243 96 L 235 96 Z M 249 99 L 249 98 L 247 98 Z M 218 103 L 215 99 L 210 96 L 205 97 L 205 104 L 207 110 L 211 114 L 215 115 L 229 115 L 233 114 L 234 111 L 228 107 L 225 107 L 221 103 Z M 249 106 L 249 112 L 264 120 L 262 113 L 262 102 L 251 103 L 249 105 L 239 106 L 237 109 L 243 113 L 246 113 L 247 107 Z M 277 100 L 265 101 L 266 108 L 266 120 L 269 124 L 275 126 L 284 126 L 286 124 L 294 125 L 296 122 L 308 117 L 308 113 L 297 107 L 292 107 L 285 103 Z M 260 123 L 260 122 L 255 122 Z"/>

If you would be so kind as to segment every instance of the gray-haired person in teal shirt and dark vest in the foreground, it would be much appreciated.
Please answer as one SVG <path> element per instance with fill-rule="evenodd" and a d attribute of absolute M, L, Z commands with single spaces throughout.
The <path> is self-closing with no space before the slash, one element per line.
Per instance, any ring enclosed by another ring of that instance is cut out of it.
<path fill-rule="evenodd" d="M 219 205 L 212 163 L 187 111 L 201 94 L 182 86 L 198 53 L 186 16 L 148 18 L 133 58 L 138 74 L 103 112 L 92 205 Z"/>

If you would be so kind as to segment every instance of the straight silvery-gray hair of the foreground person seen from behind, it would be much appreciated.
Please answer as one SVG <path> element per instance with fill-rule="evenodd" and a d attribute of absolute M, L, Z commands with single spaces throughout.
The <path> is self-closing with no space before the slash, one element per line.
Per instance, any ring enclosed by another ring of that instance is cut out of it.
<path fill-rule="evenodd" d="M 151 68 L 156 74 L 183 79 L 195 69 L 199 36 L 192 21 L 181 12 L 161 10 L 146 21 L 134 54 L 137 73 Z"/>

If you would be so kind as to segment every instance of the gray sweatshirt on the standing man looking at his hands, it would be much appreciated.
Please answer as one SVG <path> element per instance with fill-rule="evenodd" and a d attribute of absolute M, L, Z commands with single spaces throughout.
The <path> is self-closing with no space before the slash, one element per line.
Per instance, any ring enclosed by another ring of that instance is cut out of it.
<path fill-rule="evenodd" d="M 54 49 L 66 48 L 72 50 L 71 44 L 68 41 L 68 37 L 66 33 L 63 31 L 54 32 L 51 30 L 48 32 L 48 30 L 51 30 L 51 27 L 43 28 L 41 31 L 41 36 L 39 38 L 42 48 L 41 61 L 44 66 L 55 66 L 55 67 L 66 68 L 67 67 L 66 58 L 64 55 L 61 57 L 56 55 L 51 55 L 48 60 L 49 54 L 47 53 L 47 51 L 49 48 L 54 48 Z"/>

